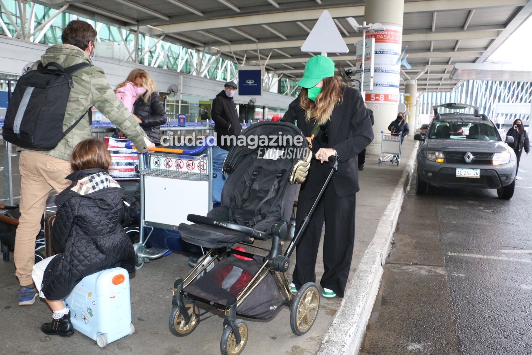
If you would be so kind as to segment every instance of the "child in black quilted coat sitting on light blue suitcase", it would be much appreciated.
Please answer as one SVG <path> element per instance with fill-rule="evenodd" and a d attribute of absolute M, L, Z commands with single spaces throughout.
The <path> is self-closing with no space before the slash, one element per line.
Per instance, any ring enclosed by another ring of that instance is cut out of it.
<path fill-rule="evenodd" d="M 72 184 L 55 200 L 57 216 L 52 244 L 59 254 L 35 264 L 32 278 L 53 311 L 52 323 L 41 331 L 48 335 L 74 334 L 70 313 L 62 300 L 85 276 L 123 267 L 135 271 L 135 251 L 122 218 L 124 189 L 107 172 L 111 155 L 96 138 L 80 142 L 72 152 Z"/>

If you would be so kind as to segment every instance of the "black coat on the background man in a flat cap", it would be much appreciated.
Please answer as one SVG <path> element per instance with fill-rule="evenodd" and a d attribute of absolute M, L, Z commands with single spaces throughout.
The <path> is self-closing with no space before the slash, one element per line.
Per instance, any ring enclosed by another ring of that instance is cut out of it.
<path fill-rule="evenodd" d="M 212 101 L 211 118 L 214 121 L 218 146 L 229 150 L 230 146 L 222 143 L 222 136 L 238 136 L 242 132 L 240 120 L 236 112 L 235 101 L 227 97 L 226 91 L 222 90 Z"/>

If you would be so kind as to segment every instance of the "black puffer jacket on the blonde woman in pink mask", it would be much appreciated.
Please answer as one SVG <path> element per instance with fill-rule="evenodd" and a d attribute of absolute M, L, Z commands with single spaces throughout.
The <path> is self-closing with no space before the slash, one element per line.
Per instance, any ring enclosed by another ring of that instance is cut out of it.
<path fill-rule="evenodd" d="M 161 125 L 167 122 L 166 111 L 159 94 L 153 92 L 149 103 L 144 102 L 144 95 L 135 101 L 133 114 L 142 120 L 140 127 L 144 129 L 149 140 L 161 144 Z"/>

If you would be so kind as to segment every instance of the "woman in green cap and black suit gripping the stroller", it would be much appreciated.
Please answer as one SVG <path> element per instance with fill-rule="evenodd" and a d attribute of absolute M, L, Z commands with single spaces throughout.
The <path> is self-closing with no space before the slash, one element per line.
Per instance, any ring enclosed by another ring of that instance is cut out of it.
<path fill-rule="evenodd" d="M 323 222 L 323 296 L 343 297 L 353 256 L 355 238 L 355 194 L 359 191 L 358 154 L 373 139 L 368 110 L 359 90 L 342 84 L 334 75 L 334 62 L 316 55 L 306 62 L 303 78 L 297 85 L 300 95 L 285 113 L 283 121 L 297 123 L 311 139 L 312 161 L 309 175 L 301 185 L 297 201 L 296 225 L 301 225 L 329 174 L 326 162 L 335 155 L 338 170 L 321 197 L 305 233 L 296 246 L 296 266 L 292 291 L 315 282 Z"/>

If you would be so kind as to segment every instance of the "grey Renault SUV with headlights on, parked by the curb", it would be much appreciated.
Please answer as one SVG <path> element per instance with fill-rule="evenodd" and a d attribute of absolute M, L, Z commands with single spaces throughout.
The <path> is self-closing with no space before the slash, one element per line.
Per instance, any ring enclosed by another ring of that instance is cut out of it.
<path fill-rule="evenodd" d="M 434 106 L 434 119 L 417 155 L 417 194 L 429 186 L 496 188 L 509 200 L 516 185 L 516 154 L 503 141 L 494 123 L 476 106 L 447 103 Z M 508 143 L 508 144 L 507 144 Z"/>

